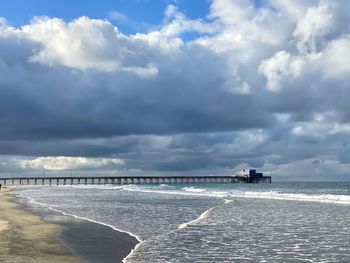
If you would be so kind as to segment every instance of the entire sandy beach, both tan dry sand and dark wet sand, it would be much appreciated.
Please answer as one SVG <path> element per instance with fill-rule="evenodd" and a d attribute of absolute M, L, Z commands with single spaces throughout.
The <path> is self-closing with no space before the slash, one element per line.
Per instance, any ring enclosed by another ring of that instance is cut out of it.
<path fill-rule="evenodd" d="M 2 263 L 122 262 L 136 244 L 126 233 L 28 206 L 9 188 L 0 191 Z"/>

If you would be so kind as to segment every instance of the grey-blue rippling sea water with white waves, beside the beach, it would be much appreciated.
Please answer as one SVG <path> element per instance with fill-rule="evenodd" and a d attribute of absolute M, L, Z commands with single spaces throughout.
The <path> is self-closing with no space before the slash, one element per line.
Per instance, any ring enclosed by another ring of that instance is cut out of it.
<path fill-rule="evenodd" d="M 125 262 L 350 262 L 350 183 L 77 185 L 31 202 L 125 231 Z"/>

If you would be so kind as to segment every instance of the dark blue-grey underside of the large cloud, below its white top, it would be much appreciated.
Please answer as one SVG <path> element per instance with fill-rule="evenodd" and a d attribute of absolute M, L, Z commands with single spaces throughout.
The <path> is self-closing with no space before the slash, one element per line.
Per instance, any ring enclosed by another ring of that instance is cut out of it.
<path fill-rule="evenodd" d="M 12 61 L 14 66 L 3 60 L 3 139 L 229 131 L 270 127 L 275 121 L 256 97 L 220 90 L 224 76 L 216 72 L 217 63 L 198 68 L 214 55 L 186 54 L 178 65 L 158 62 L 155 78 L 48 67 L 27 62 L 27 55 Z"/>

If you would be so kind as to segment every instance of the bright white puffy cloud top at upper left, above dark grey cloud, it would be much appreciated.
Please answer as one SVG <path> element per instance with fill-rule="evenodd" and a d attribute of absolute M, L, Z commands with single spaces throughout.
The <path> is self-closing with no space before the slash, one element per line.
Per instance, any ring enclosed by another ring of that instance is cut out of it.
<path fill-rule="evenodd" d="M 37 17 L 21 32 L 41 45 L 29 58 L 33 63 L 81 70 L 147 70 L 146 58 L 137 54 L 137 43 L 105 20 L 80 17 L 66 23 L 58 18 Z"/>

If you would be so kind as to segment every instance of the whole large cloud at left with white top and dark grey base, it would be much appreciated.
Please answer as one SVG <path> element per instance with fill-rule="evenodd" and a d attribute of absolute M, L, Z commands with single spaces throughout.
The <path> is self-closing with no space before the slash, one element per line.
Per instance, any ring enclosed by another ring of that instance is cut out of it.
<path fill-rule="evenodd" d="M 3 139 L 228 131 L 275 121 L 254 96 L 241 96 L 249 93 L 243 80 L 238 94 L 218 88 L 227 78 L 224 57 L 178 45 L 177 36 L 125 36 L 86 17 L 37 18 L 6 32 L 0 45 L 16 42 L 7 48 L 22 53 L 1 55 Z"/>

